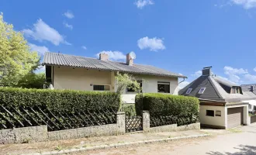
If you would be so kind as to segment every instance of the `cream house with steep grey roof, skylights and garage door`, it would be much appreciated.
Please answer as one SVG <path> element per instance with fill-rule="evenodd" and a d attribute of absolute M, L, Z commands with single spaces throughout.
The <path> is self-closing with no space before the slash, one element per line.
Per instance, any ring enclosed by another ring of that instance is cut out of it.
<path fill-rule="evenodd" d="M 211 67 L 202 69 L 202 75 L 178 93 L 195 96 L 200 101 L 201 126 L 229 129 L 249 124 L 247 95 L 240 85 L 212 74 Z"/>

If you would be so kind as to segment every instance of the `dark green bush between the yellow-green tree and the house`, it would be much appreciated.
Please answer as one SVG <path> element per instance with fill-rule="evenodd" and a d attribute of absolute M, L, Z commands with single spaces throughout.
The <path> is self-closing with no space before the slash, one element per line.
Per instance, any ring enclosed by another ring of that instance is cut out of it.
<path fill-rule="evenodd" d="M 16 87 L 42 89 L 43 84 L 47 84 L 45 79 L 46 77 L 44 73 L 29 73 L 22 77 Z"/>

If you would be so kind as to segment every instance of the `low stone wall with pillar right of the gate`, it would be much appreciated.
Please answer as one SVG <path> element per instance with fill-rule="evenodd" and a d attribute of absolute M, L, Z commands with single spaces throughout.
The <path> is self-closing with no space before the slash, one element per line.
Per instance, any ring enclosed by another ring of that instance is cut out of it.
<path fill-rule="evenodd" d="M 150 128 L 150 113 L 147 111 L 143 112 L 143 130 L 144 132 L 175 132 L 175 131 L 185 131 L 185 130 L 194 130 L 200 129 L 200 122 L 185 125 L 185 126 L 177 126 L 177 124 L 171 124 L 168 126 L 157 126 Z"/>

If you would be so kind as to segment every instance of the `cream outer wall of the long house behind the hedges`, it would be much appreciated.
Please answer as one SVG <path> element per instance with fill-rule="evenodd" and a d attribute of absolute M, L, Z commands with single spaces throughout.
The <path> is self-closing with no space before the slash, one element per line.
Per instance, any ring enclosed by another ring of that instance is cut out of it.
<path fill-rule="evenodd" d="M 142 80 L 144 93 L 157 93 L 157 82 L 170 82 L 170 94 L 178 95 L 178 77 L 159 77 L 153 75 L 134 74 Z M 54 89 L 72 89 L 93 91 L 93 84 L 110 85 L 110 91 L 116 91 L 115 72 L 87 70 L 81 67 L 57 67 L 53 70 Z M 92 85 L 91 85 L 92 84 Z M 124 103 L 135 103 L 136 92 L 123 92 Z"/>

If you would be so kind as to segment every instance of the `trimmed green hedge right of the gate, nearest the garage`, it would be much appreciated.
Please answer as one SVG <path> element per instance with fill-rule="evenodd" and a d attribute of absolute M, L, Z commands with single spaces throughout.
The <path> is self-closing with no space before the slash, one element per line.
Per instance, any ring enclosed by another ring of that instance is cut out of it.
<path fill-rule="evenodd" d="M 199 100 L 180 95 L 146 93 L 136 96 L 136 111 L 147 110 L 150 117 L 172 116 L 178 125 L 199 121 Z"/>

